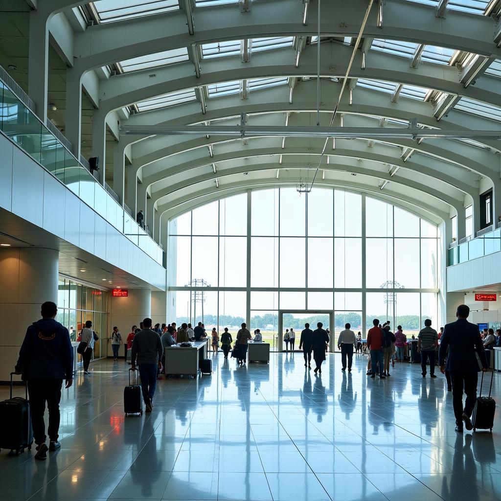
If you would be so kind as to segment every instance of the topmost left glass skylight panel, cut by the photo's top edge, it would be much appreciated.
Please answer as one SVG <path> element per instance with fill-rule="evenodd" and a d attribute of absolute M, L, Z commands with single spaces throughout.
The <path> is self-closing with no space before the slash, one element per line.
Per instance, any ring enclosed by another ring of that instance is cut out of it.
<path fill-rule="evenodd" d="M 177 0 L 95 0 L 91 2 L 101 23 L 139 18 L 179 10 Z"/>

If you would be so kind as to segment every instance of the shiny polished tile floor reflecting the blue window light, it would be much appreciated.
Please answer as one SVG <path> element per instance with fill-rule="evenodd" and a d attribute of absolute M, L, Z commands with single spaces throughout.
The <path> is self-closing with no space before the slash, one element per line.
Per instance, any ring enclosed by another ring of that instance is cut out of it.
<path fill-rule="evenodd" d="M 249 367 L 219 354 L 211 376 L 159 381 L 153 413 L 127 418 L 128 366 L 96 362 L 64 391 L 59 452 L 0 453 L 0 501 L 501 498 L 501 412 L 493 435 L 457 435 L 441 375 L 406 363 L 373 380 L 362 356 L 351 374 L 340 362 L 315 376 L 300 353 Z"/>

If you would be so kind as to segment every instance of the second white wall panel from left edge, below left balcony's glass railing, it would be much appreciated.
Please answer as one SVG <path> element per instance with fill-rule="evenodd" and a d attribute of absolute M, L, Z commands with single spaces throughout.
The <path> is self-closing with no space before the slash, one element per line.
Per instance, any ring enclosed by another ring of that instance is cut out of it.
<path fill-rule="evenodd" d="M 14 149 L 12 211 L 37 226 L 42 226 L 43 222 L 44 172 L 26 153 Z"/>

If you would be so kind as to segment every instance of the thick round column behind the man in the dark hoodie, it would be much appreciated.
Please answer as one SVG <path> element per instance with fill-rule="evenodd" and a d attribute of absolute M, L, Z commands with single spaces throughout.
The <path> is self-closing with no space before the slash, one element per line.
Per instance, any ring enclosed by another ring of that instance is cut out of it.
<path fill-rule="evenodd" d="M 9 319 L 0 335 L 0 381 L 9 381 L 27 327 L 46 301 L 58 302 L 59 252 L 38 247 L 0 250 L 0 312 Z M 62 305 L 60 305 L 62 306 Z"/>

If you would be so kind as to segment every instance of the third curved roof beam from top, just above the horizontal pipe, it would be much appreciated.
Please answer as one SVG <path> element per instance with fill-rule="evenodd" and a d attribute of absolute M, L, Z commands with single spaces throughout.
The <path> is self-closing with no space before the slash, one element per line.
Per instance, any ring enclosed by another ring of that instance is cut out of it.
<path fill-rule="evenodd" d="M 289 103 L 289 92 L 281 87 L 272 87 L 251 92 L 249 97 L 241 100 L 238 95 L 223 96 L 209 99 L 205 115 L 200 111 L 199 103 L 186 103 L 150 112 L 132 115 L 123 124 L 130 125 L 190 125 L 200 124 L 204 121 L 219 120 L 224 117 L 240 117 L 240 113 L 257 114 L 268 112 L 313 112 L 317 109 L 316 83 L 312 80 L 300 82 L 294 89 L 294 101 Z M 336 93 L 339 93 L 340 84 L 324 81 L 321 87 L 320 106 L 322 112 L 329 112 L 335 108 Z M 353 103 L 350 105 L 347 94 L 343 96 L 338 108 L 339 113 L 361 114 L 377 117 L 409 120 L 417 118 L 418 123 L 429 126 L 450 129 L 467 130 L 499 130 L 501 123 L 484 117 L 471 115 L 458 110 L 451 110 L 448 116 L 437 123 L 431 113 L 429 103 L 416 99 L 401 98 L 398 102 L 391 101 L 391 95 L 363 87 L 353 91 Z M 465 126 L 467 123 L 468 126 Z M 122 136 L 121 141 L 127 143 L 141 143 L 144 136 Z M 483 144 L 497 150 L 499 143 L 493 140 L 483 140 Z"/>

